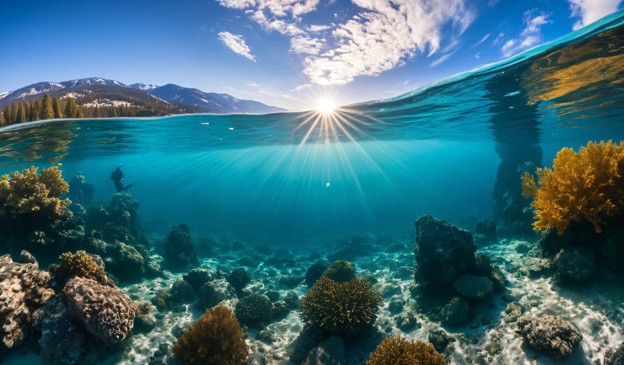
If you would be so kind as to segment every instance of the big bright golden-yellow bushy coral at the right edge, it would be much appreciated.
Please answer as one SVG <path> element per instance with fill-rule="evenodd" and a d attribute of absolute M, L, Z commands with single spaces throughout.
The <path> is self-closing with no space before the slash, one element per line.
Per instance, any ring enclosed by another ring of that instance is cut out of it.
<path fill-rule="evenodd" d="M 596 232 L 606 217 L 624 209 L 624 142 L 589 141 L 576 153 L 563 148 L 552 169 L 522 176 L 522 195 L 535 208 L 534 230 L 555 227 L 562 235 L 572 220 L 587 220 Z"/>

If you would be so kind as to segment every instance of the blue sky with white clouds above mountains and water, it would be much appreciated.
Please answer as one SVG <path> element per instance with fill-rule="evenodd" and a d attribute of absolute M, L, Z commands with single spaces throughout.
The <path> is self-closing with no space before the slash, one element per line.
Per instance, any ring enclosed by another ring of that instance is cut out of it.
<path fill-rule="evenodd" d="M 378 100 L 556 39 L 622 1 L 10 2 L 0 92 L 101 77 L 290 110 Z"/>

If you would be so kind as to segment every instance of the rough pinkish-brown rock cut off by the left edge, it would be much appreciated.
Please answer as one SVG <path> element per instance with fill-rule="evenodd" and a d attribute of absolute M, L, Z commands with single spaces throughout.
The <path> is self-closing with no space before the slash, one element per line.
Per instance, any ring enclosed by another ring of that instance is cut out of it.
<path fill-rule="evenodd" d="M 19 262 L 0 257 L 0 348 L 19 346 L 31 329 L 32 313 L 55 295 L 49 273 L 22 251 Z"/>

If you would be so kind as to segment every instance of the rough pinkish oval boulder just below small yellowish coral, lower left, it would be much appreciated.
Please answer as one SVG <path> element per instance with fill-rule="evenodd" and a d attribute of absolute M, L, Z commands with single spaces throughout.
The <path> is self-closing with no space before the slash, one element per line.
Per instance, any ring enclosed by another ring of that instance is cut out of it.
<path fill-rule="evenodd" d="M 135 303 L 117 287 L 74 277 L 62 294 L 67 311 L 107 345 L 122 341 L 134 326 Z"/>

